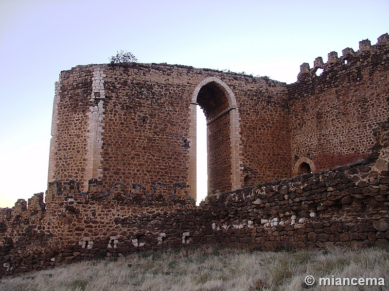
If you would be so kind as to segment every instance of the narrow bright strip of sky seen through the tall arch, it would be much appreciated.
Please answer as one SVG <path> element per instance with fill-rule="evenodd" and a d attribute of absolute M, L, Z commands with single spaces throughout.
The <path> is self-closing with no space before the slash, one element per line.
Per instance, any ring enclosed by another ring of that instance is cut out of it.
<path fill-rule="evenodd" d="M 196 106 L 196 204 L 199 205 L 208 193 L 207 168 L 207 121 L 200 106 Z"/>

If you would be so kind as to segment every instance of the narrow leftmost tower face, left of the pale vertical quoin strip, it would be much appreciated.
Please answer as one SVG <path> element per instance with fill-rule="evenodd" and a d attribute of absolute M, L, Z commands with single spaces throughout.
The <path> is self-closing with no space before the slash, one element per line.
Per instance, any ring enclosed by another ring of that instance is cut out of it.
<path fill-rule="evenodd" d="M 92 65 L 78 66 L 62 72 L 56 84 L 49 182 L 89 179 L 86 156 L 92 73 Z"/>

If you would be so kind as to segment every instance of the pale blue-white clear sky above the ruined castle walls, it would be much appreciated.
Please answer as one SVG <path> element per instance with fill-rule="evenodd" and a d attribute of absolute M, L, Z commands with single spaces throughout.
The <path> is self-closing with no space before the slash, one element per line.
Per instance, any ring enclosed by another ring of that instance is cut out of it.
<path fill-rule="evenodd" d="M 292 83 L 302 63 L 386 32 L 388 0 L 0 0 L 0 207 L 46 190 L 62 70 L 123 49 Z"/>

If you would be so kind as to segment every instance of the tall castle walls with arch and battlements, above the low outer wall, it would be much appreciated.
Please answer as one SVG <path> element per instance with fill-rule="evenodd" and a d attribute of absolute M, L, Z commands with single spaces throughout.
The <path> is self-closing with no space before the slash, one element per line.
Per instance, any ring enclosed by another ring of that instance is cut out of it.
<path fill-rule="evenodd" d="M 209 188 L 222 192 L 364 160 L 388 118 L 389 36 L 301 65 L 294 84 L 166 64 L 82 65 L 54 98 L 49 181 L 196 197 L 195 109 L 208 123 Z M 323 69 L 321 75 L 316 73 Z"/>

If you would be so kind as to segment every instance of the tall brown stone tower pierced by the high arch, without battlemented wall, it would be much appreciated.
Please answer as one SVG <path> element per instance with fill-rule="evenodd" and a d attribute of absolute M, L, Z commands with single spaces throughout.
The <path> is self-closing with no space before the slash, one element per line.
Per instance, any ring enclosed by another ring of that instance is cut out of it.
<path fill-rule="evenodd" d="M 150 195 L 165 184 L 166 193 L 185 190 L 195 198 L 189 168 L 197 101 L 209 122 L 211 188 L 230 191 L 291 175 L 284 83 L 188 66 L 121 64 L 77 66 L 62 72 L 57 86 L 49 181 L 73 179 L 83 191 L 91 178 L 101 179 L 105 191 L 123 181 L 126 193 Z"/>

